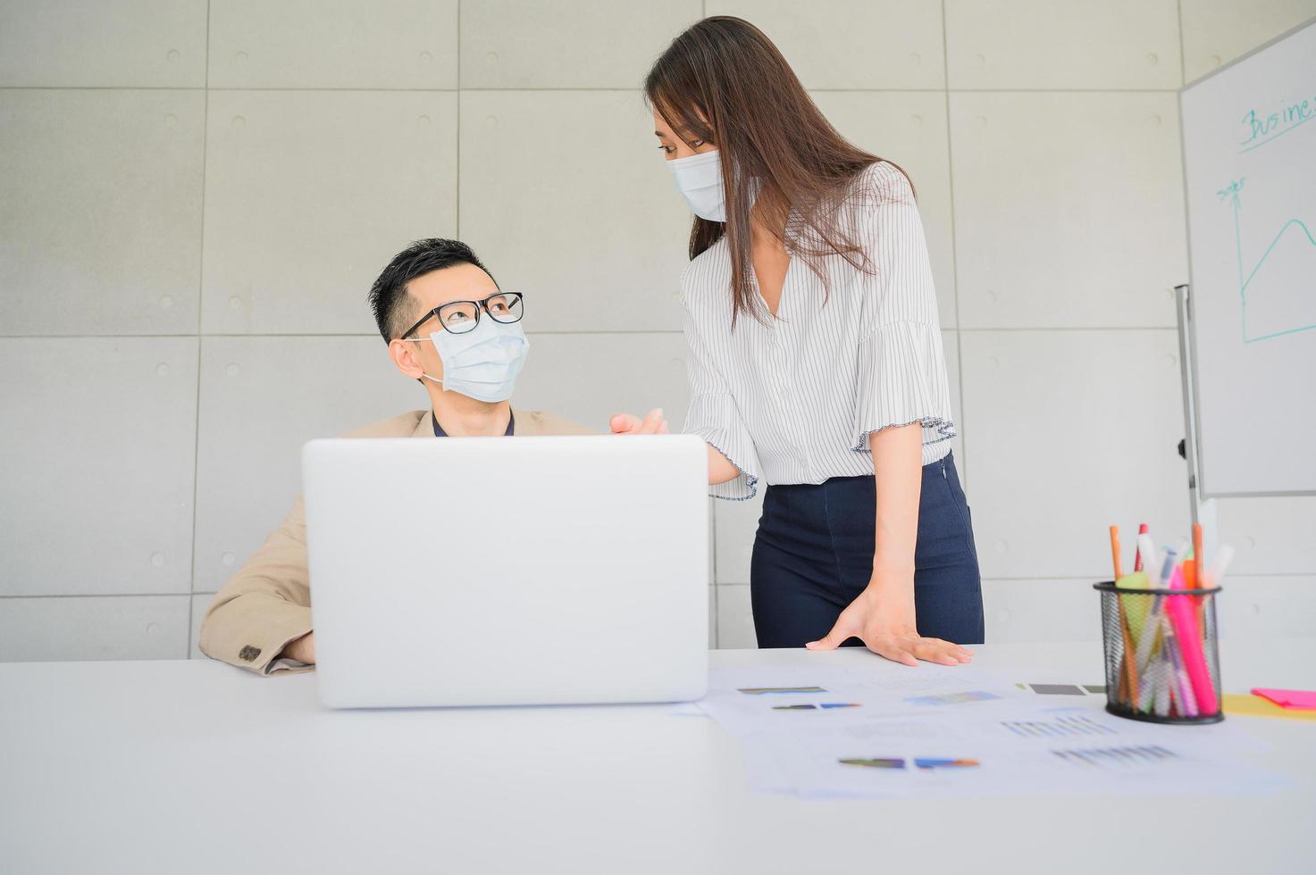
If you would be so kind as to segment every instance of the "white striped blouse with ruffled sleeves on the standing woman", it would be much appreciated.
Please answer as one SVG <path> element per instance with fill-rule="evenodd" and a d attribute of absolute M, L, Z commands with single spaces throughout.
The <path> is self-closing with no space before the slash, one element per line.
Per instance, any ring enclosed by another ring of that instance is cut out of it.
<path fill-rule="evenodd" d="M 741 314 L 732 328 L 726 239 L 682 274 L 690 412 L 684 430 L 720 450 L 741 474 L 712 488 L 750 499 L 769 484 L 822 483 L 873 474 L 869 434 L 923 424 L 923 463 L 955 436 L 937 296 L 909 182 L 887 162 L 855 179 L 841 228 L 874 272 L 840 255 L 822 280 L 791 258 L 776 317 Z"/>

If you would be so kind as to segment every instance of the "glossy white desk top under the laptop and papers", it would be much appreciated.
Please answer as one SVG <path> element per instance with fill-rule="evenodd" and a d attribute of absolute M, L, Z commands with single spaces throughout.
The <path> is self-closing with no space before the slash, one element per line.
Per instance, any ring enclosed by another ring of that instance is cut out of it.
<path fill-rule="evenodd" d="M 1099 645 L 975 650 L 1020 682 L 1101 682 Z M 859 650 L 711 659 L 917 671 Z M 1230 692 L 1316 687 L 1316 639 L 1227 641 L 1221 661 Z M 1316 724 L 1233 720 L 1271 742 L 1261 764 L 1299 783 L 1250 797 L 801 800 L 749 792 L 738 742 L 667 705 L 330 712 L 313 675 L 7 663 L 0 872 L 1316 871 L 1299 850 L 1316 826 Z"/>

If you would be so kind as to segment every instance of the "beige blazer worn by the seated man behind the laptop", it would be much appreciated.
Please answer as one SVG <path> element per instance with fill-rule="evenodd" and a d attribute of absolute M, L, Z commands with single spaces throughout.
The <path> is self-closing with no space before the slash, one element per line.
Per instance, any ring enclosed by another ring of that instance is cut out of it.
<path fill-rule="evenodd" d="M 513 411 L 513 437 L 590 434 L 551 413 Z M 342 437 L 434 437 L 429 411 L 412 411 Z M 459 438 L 458 438 L 459 439 Z M 307 517 L 301 497 L 265 545 L 215 593 L 201 622 L 201 653 L 262 675 L 290 641 L 311 632 L 311 580 L 307 574 Z M 297 663 L 300 666 L 300 663 Z M 299 668 L 290 668 L 297 671 Z M 300 668 L 301 671 L 305 667 Z"/>

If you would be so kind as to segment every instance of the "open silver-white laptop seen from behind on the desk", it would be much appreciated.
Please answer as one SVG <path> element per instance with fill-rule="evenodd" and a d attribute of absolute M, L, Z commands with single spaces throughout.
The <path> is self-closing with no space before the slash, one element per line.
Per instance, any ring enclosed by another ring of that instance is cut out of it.
<path fill-rule="evenodd" d="M 694 436 L 307 443 L 321 700 L 701 697 L 707 471 Z"/>

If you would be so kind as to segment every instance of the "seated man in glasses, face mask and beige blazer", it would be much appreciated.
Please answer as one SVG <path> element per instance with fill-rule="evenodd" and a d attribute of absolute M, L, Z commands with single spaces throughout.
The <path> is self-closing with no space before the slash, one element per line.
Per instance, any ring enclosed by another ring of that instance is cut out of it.
<path fill-rule="evenodd" d="M 345 437 L 588 433 L 551 413 L 512 409 L 508 399 L 528 349 L 520 325 L 524 303 L 519 292 L 501 291 L 465 243 L 412 243 L 375 280 L 370 305 L 393 364 L 425 386 L 432 409 L 401 413 Z M 667 430 L 661 411 L 629 425 L 632 433 Z M 315 663 L 300 497 L 283 525 L 216 593 L 201 624 L 200 646 L 209 657 L 266 675 Z"/>

